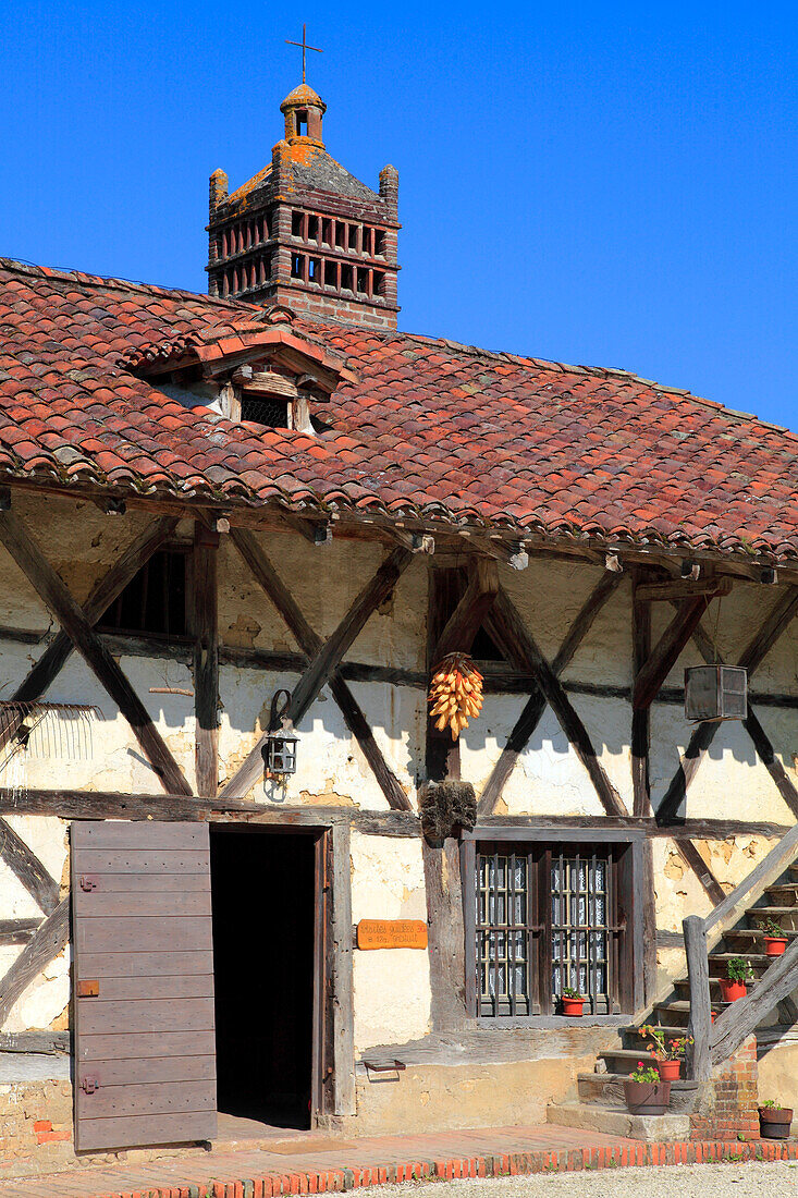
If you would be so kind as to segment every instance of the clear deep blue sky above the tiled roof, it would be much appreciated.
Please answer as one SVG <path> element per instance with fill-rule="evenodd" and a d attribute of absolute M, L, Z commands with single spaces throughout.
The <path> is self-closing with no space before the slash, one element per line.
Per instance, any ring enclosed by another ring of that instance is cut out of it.
<path fill-rule="evenodd" d="M 794 4 L 7 6 L 0 254 L 205 290 L 207 176 L 300 79 L 400 175 L 403 328 L 798 429 Z"/>

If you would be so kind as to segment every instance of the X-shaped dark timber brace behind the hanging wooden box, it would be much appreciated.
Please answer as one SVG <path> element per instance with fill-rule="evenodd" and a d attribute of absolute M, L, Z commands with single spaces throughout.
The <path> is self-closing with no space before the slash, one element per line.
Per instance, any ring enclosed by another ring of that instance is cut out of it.
<path fill-rule="evenodd" d="M 781 595 L 775 601 L 768 616 L 763 621 L 761 628 L 750 640 L 749 645 L 745 647 L 745 651 L 739 658 L 738 665 L 748 670 L 749 679 L 754 674 L 756 668 L 762 664 L 762 661 L 770 652 L 773 646 L 776 643 L 776 641 L 785 631 L 785 629 L 790 625 L 791 621 L 796 616 L 796 612 L 798 612 L 798 587 L 791 587 L 787 592 L 785 592 L 784 595 Z M 694 635 L 696 645 L 706 660 L 709 661 L 720 660 L 715 646 L 713 645 L 709 636 L 703 631 L 703 629 L 701 629 L 700 624 L 696 625 Z M 671 783 L 667 787 L 667 791 L 663 795 L 659 806 L 657 807 L 657 819 L 660 823 L 667 824 L 672 823 L 676 819 L 677 812 L 687 795 L 690 782 L 693 781 L 699 770 L 699 766 L 703 760 L 703 755 L 707 752 L 709 745 L 714 740 L 719 726 L 720 725 L 717 721 L 705 721 L 702 724 L 699 724 L 693 731 L 688 746 L 684 750 L 682 757 L 679 758 L 678 769 L 673 775 Z M 767 742 L 767 745 L 770 749 L 770 754 L 773 755 L 773 762 L 772 762 L 773 768 L 770 769 L 770 773 L 772 775 L 774 773 L 779 775 L 776 778 L 776 785 L 779 786 L 781 793 L 785 794 L 785 789 L 782 789 L 784 781 L 788 783 L 788 787 L 791 787 L 792 783 L 784 774 L 784 770 L 782 769 L 780 770 L 780 767 L 775 761 L 775 754 L 773 754 L 773 746 L 770 745 L 767 734 L 764 733 L 764 730 L 760 725 L 760 721 L 756 714 L 751 710 L 750 706 L 749 706 L 748 719 L 744 721 L 744 727 L 751 736 L 751 739 L 754 740 L 755 745 L 758 740 L 758 743 L 764 748 L 764 744 Z M 766 766 L 768 764 L 767 760 L 764 763 Z M 784 775 L 784 779 L 781 778 L 781 775 Z M 793 801 L 798 805 L 798 792 L 796 792 Z M 794 810 L 792 801 L 790 801 L 790 806 L 792 810 Z"/>

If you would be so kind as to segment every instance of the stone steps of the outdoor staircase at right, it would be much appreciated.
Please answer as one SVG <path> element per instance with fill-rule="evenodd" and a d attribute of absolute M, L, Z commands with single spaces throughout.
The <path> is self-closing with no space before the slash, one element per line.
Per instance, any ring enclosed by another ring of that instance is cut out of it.
<path fill-rule="evenodd" d="M 713 1012 L 729 1008 L 720 996 L 719 978 L 725 976 L 726 962 L 731 957 L 750 961 L 756 979 L 761 978 L 774 958 L 764 954 L 762 932 L 757 921 L 770 918 L 785 930 L 792 943 L 798 937 L 798 863 L 788 866 L 776 883 L 764 889 L 762 898 L 745 909 L 744 920 L 727 928 L 714 949 L 708 954 L 709 997 Z M 754 984 L 749 984 L 749 988 Z M 792 1023 L 794 1010 L 785 1012 L 785 1022 Z M 699 1095 L 700 1084 L 691 1081 L 671 1083 L 671 1106 L 667 1115 L 630 1115 L 623 1096 L 624 1078 L 636 1067 L 637 1061 L 654 1063 L 648 1052 L 649 1037 L 641 1035 L 645 1024 L 659 1027 L 666 1040 L 687 1035 L 690 1021 L 690 984 L 687 974 L 673 981 L 670 994 L 655 1002 L 646 1015 L 633 1024 L 621 1028 L 618 1045 L 599 1053 L 592 1073 L 576 1076 L 576 1101 L 552 1103 L 548 1107 L 551 1124 L 585 1127 L 596 1131 L 630 1136 L 631 1138 L 689 1138 L 690 1111 Z"/>

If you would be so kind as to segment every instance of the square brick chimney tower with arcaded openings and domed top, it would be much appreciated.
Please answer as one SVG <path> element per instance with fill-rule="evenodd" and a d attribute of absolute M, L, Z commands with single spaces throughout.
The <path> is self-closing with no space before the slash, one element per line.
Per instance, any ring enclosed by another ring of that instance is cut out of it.
<path fill-rule="evenodd" d="M 395 328 L 399 174 L 385 167 L 379 194 L 350 175 L 325 149 L 326 110 L 300 84 L 270 165 L 231 195 L 224 171 L 211 175 L 208 291 Z"/>

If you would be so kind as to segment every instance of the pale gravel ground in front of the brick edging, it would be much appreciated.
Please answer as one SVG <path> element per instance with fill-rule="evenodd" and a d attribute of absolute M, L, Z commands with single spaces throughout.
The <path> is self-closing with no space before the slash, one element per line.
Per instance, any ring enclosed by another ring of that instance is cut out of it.
<path fill-rule="evenodd" d="M 379 1186 L 369 1198 L 796 1198 L 798 1163 L 669 1164 Z"/>

